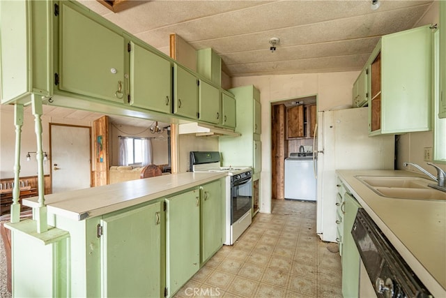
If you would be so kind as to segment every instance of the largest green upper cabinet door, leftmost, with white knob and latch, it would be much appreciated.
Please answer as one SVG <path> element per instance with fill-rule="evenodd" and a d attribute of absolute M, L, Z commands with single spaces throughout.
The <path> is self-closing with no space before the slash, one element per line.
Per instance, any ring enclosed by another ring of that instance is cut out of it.
<path fill-rule="evenodd" d="M 127 103 L 123 36 L 73 3 L 61 1 L 60 6 L 59 89 Z"/>

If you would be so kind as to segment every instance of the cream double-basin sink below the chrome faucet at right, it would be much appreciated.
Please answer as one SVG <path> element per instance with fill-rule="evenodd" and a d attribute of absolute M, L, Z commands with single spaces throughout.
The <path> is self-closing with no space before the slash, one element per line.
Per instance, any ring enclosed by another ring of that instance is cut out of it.
<path fill-rule="evenodd" d="M 386 198 L 446 200 L 446 193 L 431 188 L 434 181 L 421 177 L 357 176 L 363 184 Z"/>

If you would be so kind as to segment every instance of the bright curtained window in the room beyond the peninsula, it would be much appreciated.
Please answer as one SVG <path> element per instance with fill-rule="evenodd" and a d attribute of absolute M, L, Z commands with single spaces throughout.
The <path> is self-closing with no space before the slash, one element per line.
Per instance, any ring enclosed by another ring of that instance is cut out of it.
<path fill-rule="evenodd" d="M 148 137 L 119 137 L 119 165 L 149 165 L 152 143 Z"/>

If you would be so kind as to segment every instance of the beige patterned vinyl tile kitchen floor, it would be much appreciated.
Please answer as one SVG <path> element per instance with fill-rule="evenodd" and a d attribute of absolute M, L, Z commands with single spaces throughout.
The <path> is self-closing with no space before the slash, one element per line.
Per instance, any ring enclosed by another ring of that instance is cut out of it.
<path fill-rule="evenodd" d="M 272 200 L 175 297 L 342 297 L 337 244 L 316 234 L 316 204 Z"/>

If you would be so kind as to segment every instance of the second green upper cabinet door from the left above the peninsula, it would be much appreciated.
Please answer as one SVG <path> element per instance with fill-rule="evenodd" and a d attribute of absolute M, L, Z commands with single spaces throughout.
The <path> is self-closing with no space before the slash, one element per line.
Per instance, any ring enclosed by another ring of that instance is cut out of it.
<path fill-rule="evenodd" d="M 170 61 L 133 42 L 130 42 L 130 45 L 130 105 L 170 113 Z"/>

